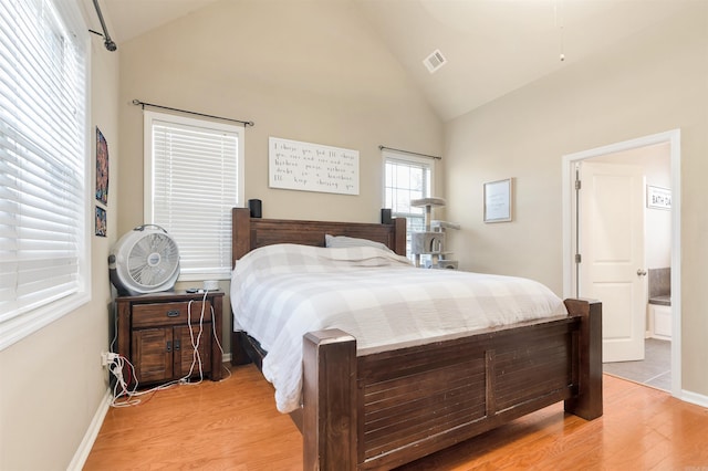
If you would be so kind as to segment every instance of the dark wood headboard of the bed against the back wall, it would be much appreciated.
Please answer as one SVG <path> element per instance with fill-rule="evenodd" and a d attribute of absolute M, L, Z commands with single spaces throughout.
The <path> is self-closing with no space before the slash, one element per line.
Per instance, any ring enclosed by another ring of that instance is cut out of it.
<path fill-rule="evenodd" d="M 232 262 L 259 247 L 274 243 L 300 243 L 324 247 L 324 236 L 347 236 L 385 243 L 399 255 L 406 254 L 406 220 L 392 224 L 366 222 L 299 221 L 251 218 L 248 208 L 231 210 Z"/>

